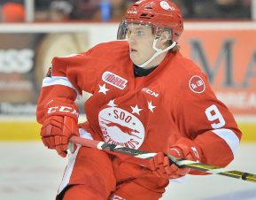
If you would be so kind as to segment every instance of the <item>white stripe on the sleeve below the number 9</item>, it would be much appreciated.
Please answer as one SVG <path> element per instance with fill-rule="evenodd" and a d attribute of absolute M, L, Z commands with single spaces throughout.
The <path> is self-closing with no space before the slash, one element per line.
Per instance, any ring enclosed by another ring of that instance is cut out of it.
<path fill-rule="evenodd" d="M 237 135 L 230 129 L 226 129 L 226 128 L 215 129 L 212 131 L 215 135 L 218 135 L 225 142 L 228 143 L 229 148 L 232 150 L 233 155 L 235 156 L 235 153 L 237 152 L 239 142 L 240 142 Z"/>

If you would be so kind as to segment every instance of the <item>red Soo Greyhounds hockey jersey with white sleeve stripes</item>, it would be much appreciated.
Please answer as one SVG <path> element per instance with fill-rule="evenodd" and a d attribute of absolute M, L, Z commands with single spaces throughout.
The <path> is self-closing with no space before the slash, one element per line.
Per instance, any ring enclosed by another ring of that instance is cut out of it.
<path fill-rule="evenodd" d="M 93 96 L 84 104 L 85 127 L 95 139 L 152 152 L 166 151 L 180 137 L 202 148 L 210 165 L 228 165 L 241 132 L 213 94 L 197 65 L 180 53 L 168 53 L 149 75 L 135 77 L 127 42 L 101 43 L 85 53 L 53 58 L 38 101 L 75 100 L 82 91 Z"/>

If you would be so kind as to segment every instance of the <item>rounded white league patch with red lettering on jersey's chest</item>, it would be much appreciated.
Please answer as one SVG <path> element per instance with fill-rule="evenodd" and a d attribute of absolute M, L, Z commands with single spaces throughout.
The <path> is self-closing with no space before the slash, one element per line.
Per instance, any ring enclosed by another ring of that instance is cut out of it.
<path fill-rule="evenodd" d="M 112 86 L 120 89 L 124 89 L 127 84 L 127 80 L 121 78 L 120 76 L 111 73 L 111 72 L 105 72 L 102 75 L 102 80 L 111 84 Z"/>

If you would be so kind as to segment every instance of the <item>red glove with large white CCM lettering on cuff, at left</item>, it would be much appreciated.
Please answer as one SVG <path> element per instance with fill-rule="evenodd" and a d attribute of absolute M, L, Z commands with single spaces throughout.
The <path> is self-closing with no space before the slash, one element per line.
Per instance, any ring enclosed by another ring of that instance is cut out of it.
<path fill-rule="evenodd" d="M 58 98 L 44 106 L 44 115 L 40 133 L 44 145 L 57 150 L 61 157 L 66 157 L 68 138 L 79 135 L 77 106 L 70 100 Z"/>

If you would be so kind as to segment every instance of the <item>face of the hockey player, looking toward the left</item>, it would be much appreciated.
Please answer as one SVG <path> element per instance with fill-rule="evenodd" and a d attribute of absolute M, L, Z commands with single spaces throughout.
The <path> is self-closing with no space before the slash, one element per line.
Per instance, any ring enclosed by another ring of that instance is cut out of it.
<path fill-rule="evenodd" d="M 155 53 L 152 49 L 154 35 L 152 28 L 146 25 L 128 25 L 128 43 L 130 58 L 135 65 L 146 62 Z"/>

